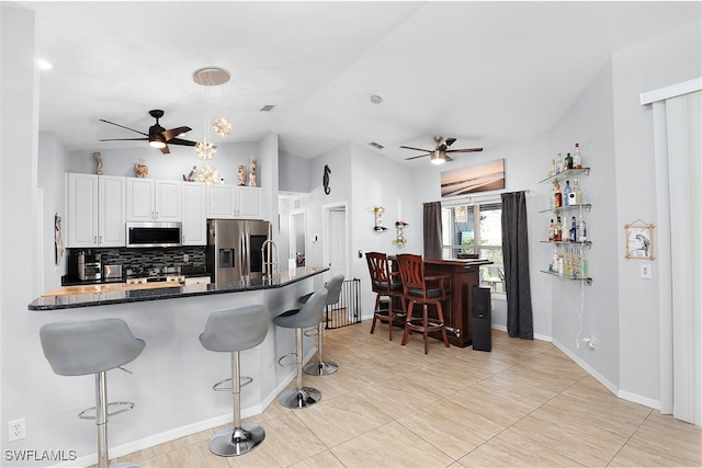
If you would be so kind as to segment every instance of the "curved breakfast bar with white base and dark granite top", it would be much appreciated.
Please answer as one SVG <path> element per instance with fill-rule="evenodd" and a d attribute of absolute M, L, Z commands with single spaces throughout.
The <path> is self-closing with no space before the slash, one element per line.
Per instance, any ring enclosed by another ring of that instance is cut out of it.
<path fill-rule="evenodd" d="M 27 344 L 31 351 L 18 355 L 31 359 L 26 367 L 32 368 L 36 381 L 27 388 L 27 398 L 42 415 L 33 423 L 37 440 L 76 449 L 76 466 L 95 464 L 91 436 L 94 424 L 68 416 L 89 406 L 89 386 L 80 378 L 65 378 L 52 372 L 39 343 L 38 330 L 45 323 L 120 318 L 136 338 L 145 341 L 141 355 L 125 366 L 132 375 L 110 375 L 112 398 L 136 404 L 134 411 L 110 422 L 116 427 L 110 436 L 111 455 L 120 457 L 231 423 L 231 395 L 212 390 L 213 384 L 230 377 L 229 353 L 213 353 L 199 340 L 215 310 L 263 306 L 269 323 L 265 339 L 241 352 L 241 375 L 253 379 L 241 390 L 241 418 L 259 414 L 273 402 L 278 404 L 279 393 L 295 378 L 294 367 L 283 367 L 278 362 L 294 352 L 296 344 L 295 331 L 275 327 L 272 320 L 301 307 L 298 298 L 321 288 L 328 271 L 307 266 L 282 271 L 273 281 L 228 285 L 116 283 L 66 286 L 46 293 L 29 306 L 27 327 L 35 338 Z M 304 336 L 304 362 L 315 354 L 315 338 Z M 60 396 L 59 406 L 55 396 Z M 84 436 L 76 437 L 77 433 Z"/>

